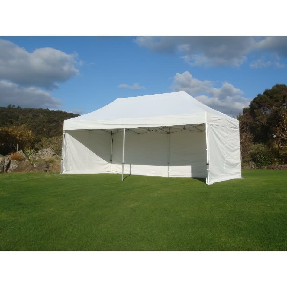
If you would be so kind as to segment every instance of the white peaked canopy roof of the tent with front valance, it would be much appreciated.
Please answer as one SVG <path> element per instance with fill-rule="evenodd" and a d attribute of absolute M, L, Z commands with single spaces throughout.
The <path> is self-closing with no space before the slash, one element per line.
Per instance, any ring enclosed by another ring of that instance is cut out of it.
<path fill-rule="evenodd" d="M 237 121 L 202 104 L 184 91 L 117 98 L 110 104 L 64 121 L 64 130 L 157 127 L 205 123 L 206 113 Z"/>

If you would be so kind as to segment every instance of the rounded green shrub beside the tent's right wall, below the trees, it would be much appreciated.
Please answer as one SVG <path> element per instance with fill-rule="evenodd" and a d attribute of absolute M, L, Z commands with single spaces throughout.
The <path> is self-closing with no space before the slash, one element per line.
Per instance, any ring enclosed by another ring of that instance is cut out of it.
<path fill-rule="evenodd" d="M 263 143 L 254 144 L 249 150 L 249 156 L 259 168 L 272 163 L 272 151 Z"/>

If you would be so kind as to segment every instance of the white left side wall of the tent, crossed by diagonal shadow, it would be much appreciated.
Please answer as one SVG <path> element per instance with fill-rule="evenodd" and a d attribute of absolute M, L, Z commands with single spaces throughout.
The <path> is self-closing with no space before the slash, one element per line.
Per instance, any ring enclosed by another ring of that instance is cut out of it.
<path fill-rule="evenodd" d="M 75 130 L 65 134 L 63 173 L 110 173 L 111 134 Z"/>

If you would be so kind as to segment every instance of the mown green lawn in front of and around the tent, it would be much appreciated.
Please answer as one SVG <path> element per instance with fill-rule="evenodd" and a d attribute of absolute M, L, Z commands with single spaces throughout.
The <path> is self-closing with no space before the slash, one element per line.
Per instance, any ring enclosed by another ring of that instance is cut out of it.
<path fill-rule="evenodd" d="M 287 250 L 287 171 L 1 174 L 0 250 Z"/>

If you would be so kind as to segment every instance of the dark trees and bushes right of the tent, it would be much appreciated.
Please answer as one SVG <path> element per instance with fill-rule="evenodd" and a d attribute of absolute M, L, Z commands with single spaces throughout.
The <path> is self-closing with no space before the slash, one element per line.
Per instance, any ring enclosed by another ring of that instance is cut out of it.
<path fill-rule="evenodd" d="M 276 84 L 258 94 L 237 116 L 242 164 L 258 167 L 287 163 L 287 86 Z"/>

